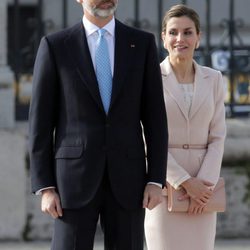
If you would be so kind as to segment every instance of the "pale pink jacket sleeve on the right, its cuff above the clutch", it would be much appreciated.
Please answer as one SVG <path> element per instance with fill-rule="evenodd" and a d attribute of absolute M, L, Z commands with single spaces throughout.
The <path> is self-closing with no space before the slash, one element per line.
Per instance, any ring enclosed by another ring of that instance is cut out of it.
<path fill-rule="evenodd" d="M 226 119 L 224 105 L 225 90 L 222 74 L 217 72 L 216 88 L 214 88 L 214 115 L 209 126 L 208 150 L 197 175 L 198 178 L 217 183 L 226 137 Z"/>

